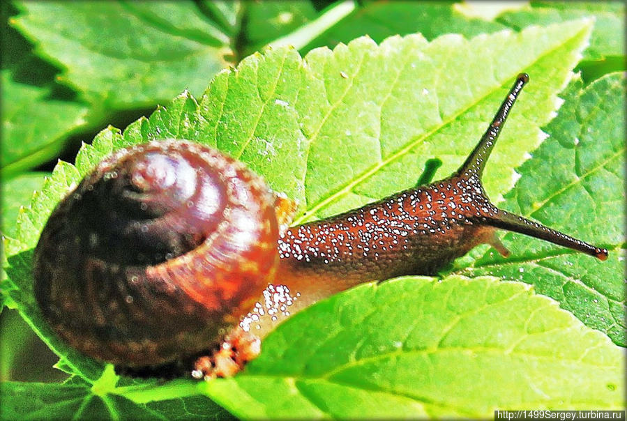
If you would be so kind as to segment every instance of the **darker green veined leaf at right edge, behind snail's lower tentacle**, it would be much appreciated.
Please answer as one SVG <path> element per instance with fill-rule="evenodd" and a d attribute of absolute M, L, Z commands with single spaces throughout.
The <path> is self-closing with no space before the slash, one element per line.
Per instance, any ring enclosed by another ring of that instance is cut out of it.
<path fill-rule="evenodd" d="M 517 234 L 504 236 L 513 258 L 486 252 L 462 271 L 534 284 L 619 345 L 625 338 L 625 76 L 612 73 L 585 89 L 575 80 L 547 127 L 550 137 L 518 172 L 503 207 L 610 250 L 596 261 Z M 547 163 L 553 162 L 551 165 Z"/>

